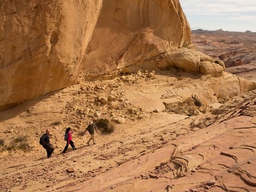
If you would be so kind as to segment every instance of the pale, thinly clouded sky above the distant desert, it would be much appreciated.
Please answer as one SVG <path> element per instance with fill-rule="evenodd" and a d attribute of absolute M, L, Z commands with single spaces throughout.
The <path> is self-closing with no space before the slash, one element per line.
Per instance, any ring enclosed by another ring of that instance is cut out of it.
<path fill-rule="evenodd" d="M 256 0 L 180 0 L 191 29 L 256 32 Z"/>

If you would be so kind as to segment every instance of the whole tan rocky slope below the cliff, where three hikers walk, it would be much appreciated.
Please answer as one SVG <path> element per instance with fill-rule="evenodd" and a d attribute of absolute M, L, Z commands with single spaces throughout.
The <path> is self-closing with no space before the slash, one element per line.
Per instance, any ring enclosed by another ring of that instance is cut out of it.
<path fill-rule="evenodd" d="M 241 80 L 138 72 L 1 111 L 0 190 L 255 191 L 256 93 L 240 92 Z M 99 118 L 115 131 L 87 146 L 84 130 Z M 61 154 L 68 126 L 77 150 Z M 38 142 L 45 129 L 49 159 Z"/>

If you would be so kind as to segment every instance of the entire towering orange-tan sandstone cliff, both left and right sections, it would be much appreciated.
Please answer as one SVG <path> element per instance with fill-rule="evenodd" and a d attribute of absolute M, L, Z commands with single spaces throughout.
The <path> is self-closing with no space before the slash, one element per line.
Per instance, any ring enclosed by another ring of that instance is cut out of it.
<path fill-rule="evenodd" d="M 76 83 L 82 66 L 99 76 L 190 44 L 179 1 L 23 0 L 0 9 L 2 109 Z"/>

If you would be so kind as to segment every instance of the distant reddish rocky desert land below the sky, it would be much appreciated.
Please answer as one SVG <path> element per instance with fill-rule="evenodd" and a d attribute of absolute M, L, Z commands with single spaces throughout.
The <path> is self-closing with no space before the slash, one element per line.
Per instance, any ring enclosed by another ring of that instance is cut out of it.
<path fill-rule="evenodd" d="M 198 51 L 220 59 L 226 68 L 256 65 L 256 33 L 198 29 L 193 30 L 191 36 Z"/>

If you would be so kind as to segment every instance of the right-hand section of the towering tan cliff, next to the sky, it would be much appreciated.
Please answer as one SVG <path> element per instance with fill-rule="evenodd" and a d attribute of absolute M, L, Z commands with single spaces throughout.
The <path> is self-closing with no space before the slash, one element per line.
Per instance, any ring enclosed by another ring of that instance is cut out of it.
<path fill-rule="evenodd" d="M 87 77 L 106 74 L 191 44 L 178 0 L 106 0 L 88 45 Z"/>

